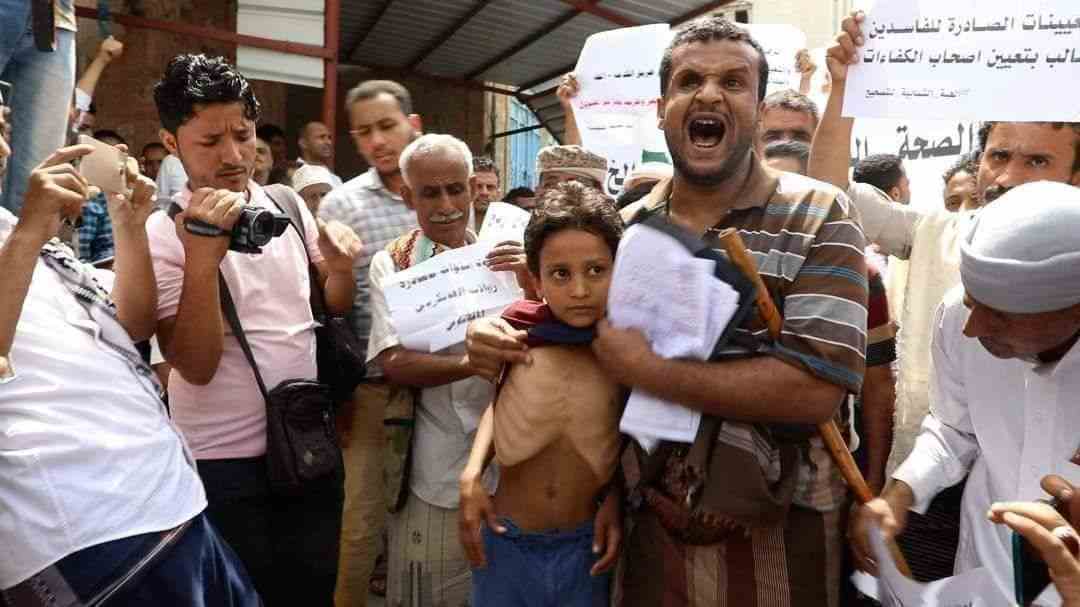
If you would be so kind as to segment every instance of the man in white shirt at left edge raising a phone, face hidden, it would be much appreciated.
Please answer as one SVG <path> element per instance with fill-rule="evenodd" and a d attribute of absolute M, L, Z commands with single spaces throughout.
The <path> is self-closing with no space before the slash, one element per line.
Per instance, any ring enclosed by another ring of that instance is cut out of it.
<path fill-rule="evenodd" d="M 53 153 L 30 174 L 22 220 L 0 214 L 0 604 L 255 607 L 133 343 L 154 324 L 152 181 L 132 175 L 109 200 L 111 296 L 111 272 L 53 238 L 86 202 L 71 161 L 92 149 Z"/>

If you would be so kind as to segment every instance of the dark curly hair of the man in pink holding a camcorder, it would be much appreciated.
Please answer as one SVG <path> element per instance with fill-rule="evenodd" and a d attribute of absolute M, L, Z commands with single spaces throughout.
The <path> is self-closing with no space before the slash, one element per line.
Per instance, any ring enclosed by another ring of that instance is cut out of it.
<path fill-rule="evenodd" d="M 195 114 L 195 106 L 240 103 L 244 118 L 259 119 L 259 102 L 252 85 L 225 57 L 176 55 L 153 86 L 161 125 L 170 133 Z"/>

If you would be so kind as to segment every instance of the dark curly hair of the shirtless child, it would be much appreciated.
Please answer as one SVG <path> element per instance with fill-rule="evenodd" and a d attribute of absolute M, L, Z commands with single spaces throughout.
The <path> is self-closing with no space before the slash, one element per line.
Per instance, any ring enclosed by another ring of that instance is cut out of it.
<path fill-rule="evenodd" d="M 540 274 L 540 251 L 548 238 L 563 230 L 583 230 L 604 239 L 615 257 L 623 222 L 604 192 L 578 181 L 559 184 L 544 192 L 525 227 L 525 261 Z"/>

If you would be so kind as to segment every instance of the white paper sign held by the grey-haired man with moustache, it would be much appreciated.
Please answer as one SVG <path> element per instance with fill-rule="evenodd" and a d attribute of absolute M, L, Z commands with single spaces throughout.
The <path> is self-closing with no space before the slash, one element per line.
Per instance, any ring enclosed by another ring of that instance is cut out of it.
<path fill-rule="evenodd" d="M 469 322 L 522 297 L 512 272 L 484 265 L 490 243 L 441 253 L 386 278 L 382 289 L 402 345 L 437 352 L 464 340 Z"/>

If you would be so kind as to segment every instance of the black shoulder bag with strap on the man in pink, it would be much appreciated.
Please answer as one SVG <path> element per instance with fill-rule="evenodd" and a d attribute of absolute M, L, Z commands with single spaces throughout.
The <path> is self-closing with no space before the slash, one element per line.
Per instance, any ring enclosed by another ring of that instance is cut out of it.
<path fill-rule="evenodd" d="M 173 203 L 168 215 L 180 207 Z M 247 342 L 237 306 L 220 270 L 217 272 L 221 312 L 252 366 L 259 392 L 267 404 L 267 477 L 270 490 L 299 495 L 308 484 L 338 473 L 343 463 L 334 430 L 330 388 L 315 379 L 286 379 L 267 391 L 255 354 Z"/>

